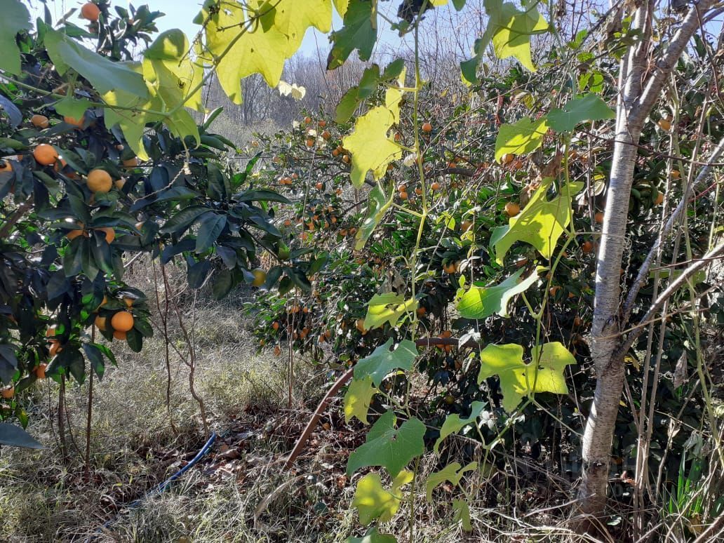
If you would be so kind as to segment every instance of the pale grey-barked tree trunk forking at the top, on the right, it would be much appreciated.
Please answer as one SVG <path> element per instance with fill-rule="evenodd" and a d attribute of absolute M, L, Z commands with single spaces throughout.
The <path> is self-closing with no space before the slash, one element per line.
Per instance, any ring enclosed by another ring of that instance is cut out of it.
<path fill-rule="evenodd" d="M 626 327 L 620 319 L 620 269 L 637 145 L 644 119 L 660 97 L 666 77 L 711 5 L 712 0 L 700 0 L 691 8 L 651 75 L 644 78 L 651 65 L 654 9 L 652 1 L 644 2 L 636 8 L 632 23 L 632 28 L 641 31 L 641 38 L 620 63 L 613 162 L 596 266 L 592 359 L 597 382 L 583 437 L 583 474 L 578 490 L 580 512 L 586 515 L 582 526 L 592 526 L 592 517 L 604 513 L 613 431 L 625 378 L 623 354 L 617 354 L 620 332 Z"/>

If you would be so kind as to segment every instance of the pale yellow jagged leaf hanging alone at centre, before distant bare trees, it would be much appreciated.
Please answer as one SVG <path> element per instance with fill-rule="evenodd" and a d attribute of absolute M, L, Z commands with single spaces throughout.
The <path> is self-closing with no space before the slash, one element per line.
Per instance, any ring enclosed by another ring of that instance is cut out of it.
<path fill-rule="evenodd" d="M 342 138 L 342 145 L 352 155 L 350 180 L 355 188 L 361 188 L 370 170 L 375 179 L 380 179 L 387 172 L 387 164 L 402 156 L 400 146 L 387 137 L 394 122 L 392 111 L 377 106 L 358 117 L 355 131 Z"/>

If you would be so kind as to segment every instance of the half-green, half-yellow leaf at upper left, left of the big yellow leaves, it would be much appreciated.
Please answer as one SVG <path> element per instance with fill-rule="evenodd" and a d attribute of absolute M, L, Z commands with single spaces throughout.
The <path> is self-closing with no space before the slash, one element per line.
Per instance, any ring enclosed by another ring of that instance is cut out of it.
<path fill-rule="evenodd" d="M 156 82 L 157 93 L 168 109 L 185 100 L 186 106 L 203 111 L 199 87 L 203 69 L 191 62 L 189 48 L 181 30 L 167 30 L 143 53 L 143 71 L 147 81 Z"/>

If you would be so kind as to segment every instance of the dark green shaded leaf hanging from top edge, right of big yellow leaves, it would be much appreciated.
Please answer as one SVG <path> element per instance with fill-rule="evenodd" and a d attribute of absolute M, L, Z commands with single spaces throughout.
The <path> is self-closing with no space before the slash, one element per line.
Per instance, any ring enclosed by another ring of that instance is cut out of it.
<path fill-rule="evenodd" d="M 377 13 L 371 0 L 349 0 L 344 14 L 344 25 L 331 38 L 327 70 L 334 70 L 345 63 L 350 53 L 359 49 L 359 58 L 369 60 L 377 43 Z"/>

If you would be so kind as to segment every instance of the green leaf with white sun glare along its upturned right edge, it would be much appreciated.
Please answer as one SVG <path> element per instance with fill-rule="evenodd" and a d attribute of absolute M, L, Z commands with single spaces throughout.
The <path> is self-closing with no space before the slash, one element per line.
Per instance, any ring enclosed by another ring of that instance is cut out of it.
<path fill-rule="evenodd" d="M 538 280 L 538 271 L 521 279 L 525 269 L 516 271 L 498 285 L 492 287 L 471 287 L 460 296 L 458 311 L 463 319 L 487 319 L 494 313 L 508 317 L 508 302 L 513 296 L 525 292 Z"/>

